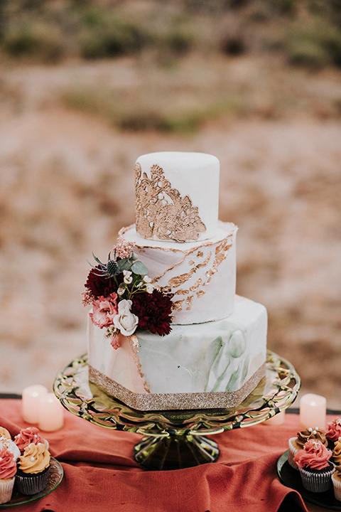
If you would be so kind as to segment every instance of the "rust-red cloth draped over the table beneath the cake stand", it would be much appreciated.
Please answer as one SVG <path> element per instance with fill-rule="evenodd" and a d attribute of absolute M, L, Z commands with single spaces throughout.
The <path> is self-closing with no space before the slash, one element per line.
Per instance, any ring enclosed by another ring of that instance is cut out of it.
<path fill-rule="evenodd" d="M 12 436 L 29 426 L 21 418 L 21 400 L 0 400 L 0 426 Z M 63 466 L 63 481 L 47 496 L 15 510 L 306 511 L 301 496 L 283 486 L 276 474 L 278 457 L 298 430 L 298 415 L 287 413 L 283 425 L 260 424 L 213 435 L 220 447 L 217 462 L 175 471 L 147 471 L 132 457 L 141 435 L 92 425 L 65 410 L 62 430 L 42 432 L 51 455 Z"/>

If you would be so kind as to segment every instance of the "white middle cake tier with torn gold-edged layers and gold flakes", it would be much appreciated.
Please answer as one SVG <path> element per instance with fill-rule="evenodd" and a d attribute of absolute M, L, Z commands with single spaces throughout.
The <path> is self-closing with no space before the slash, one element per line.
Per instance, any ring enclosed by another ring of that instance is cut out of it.
<path fill-rule="evenodd" d="M 201 324 L 234 311 L 237 229 L 219 222 L 215 238 L 179 243 L 146 240 L 131 225 L 119 237 L 134 242 L 153 284 L 173 294 L 175 324 Z"/>

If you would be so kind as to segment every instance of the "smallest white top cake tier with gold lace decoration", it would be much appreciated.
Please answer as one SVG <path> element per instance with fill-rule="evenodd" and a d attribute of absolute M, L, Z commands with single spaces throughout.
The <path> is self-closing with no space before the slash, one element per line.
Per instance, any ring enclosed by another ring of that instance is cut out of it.
<path fill-rule="evenodd" d="M 152 240 L 190 242 L 217 234 L 219 160 L 162 151 L 135 164 L 136 231 Z"/>

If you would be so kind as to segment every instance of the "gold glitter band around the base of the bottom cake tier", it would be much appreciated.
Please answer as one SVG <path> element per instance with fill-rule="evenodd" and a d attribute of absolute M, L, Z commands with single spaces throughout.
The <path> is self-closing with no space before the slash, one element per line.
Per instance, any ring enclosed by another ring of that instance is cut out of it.
<path fill-rule="evenodd" d="M 89 365 L 89 380 L 133 409 L 186 410 L 237 407 L 265 375 L 265 363 L 237 391 L 214 393 L 133 393 Z"/>

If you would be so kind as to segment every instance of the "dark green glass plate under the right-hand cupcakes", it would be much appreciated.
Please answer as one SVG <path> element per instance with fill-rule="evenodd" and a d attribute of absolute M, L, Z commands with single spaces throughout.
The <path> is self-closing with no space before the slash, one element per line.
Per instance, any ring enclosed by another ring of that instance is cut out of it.
<path fill-rule="evenodd" d="M 324 493 L 312 493 L 304 489 L 299 471 L 293 469 L 288 463 L 288 450 L 286 450 L 277 461 L 277 474 L 282 484 L 298 491 L 304 501 L 308 501 L 320 507 L 330 508 L 331 510 L 341 511 L 341 501 L 335 499 L 332 489 Z"/>

